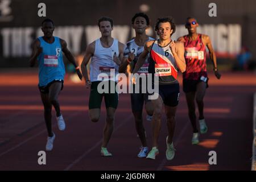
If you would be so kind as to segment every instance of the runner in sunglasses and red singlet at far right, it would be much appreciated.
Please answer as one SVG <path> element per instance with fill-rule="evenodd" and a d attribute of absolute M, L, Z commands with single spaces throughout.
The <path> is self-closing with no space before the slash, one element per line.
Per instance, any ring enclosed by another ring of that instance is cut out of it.
<path fill-rule="evenodd" d="M 188 105 L 188 115 L 193 127 L 192 144 L 199 143 L 199 133 L 196 127 L 196 106 L 199 110 L 200 133 L 207 133 L 207 125 L 204 119 L 204 96 L 208 88 L 206 49 L 209 50 L 210 60 L 213 63 L 214 75 L 220 79 L 221 75 L 217 69 L 216 56 L 208 35 L 197 34 L 196 28 L 199 26 L 195 18 L 187 18 L 185 27 L 188 35 L 180 37 L 178 40 L 184 43 L 186 71 L 183 73 L 183 91 L 186 95 Z"/>

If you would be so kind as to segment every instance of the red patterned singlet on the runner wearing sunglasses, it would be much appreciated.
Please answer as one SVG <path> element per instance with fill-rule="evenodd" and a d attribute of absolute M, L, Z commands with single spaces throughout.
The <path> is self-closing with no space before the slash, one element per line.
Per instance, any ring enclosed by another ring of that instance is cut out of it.
<path fill-rule="evenodd" d="M 202 35 L 198 34 L 196 40 L 189 40 L 188 35 L 183 38 L 187 66 L 183 79 L 199 80 L 201 76 L 207 77 L 206 50 Z"/>

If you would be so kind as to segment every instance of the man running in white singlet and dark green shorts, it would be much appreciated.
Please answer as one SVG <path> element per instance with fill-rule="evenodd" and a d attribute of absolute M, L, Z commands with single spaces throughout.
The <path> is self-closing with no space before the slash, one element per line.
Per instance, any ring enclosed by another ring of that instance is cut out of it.
<path fill-rule="evenodd" d="M 98 20 L 101 38 L 90 43 L 86 48 L 84 60 L 82 61 L 82 74 L 84 75 L 86 87 L 90 87 L 89 98 L 89 117 L 92 122 L 97 122 L 100 119 L 101 101 L 104 97 L 106 106 L 106 123 L 103 133 L 103 141 L 101 146 L 102 156 L 112 156 L 107 150 L 110 137 L 114 129 L 114 114 L 118 105 L 118 93 L 99 93 L 98 85 L 102 81 L 109 82 L 110 87 L 115 87 L 117 81 L 115 77 L 111 77 L 110 71 L 114 69 L 115 75 L 118 74 L 118 68 L 123 58 L 124 45 L 113 39 L 111 32 L 113 30 L 113 20 L 108 17 L 102 17 Z M 90 78 L 86 65 L 90 58 Z M 108 77 L 102 77 L 101 73 L 106 73 Z M 110 88 L 109 88 L 110 90 Z"/>

